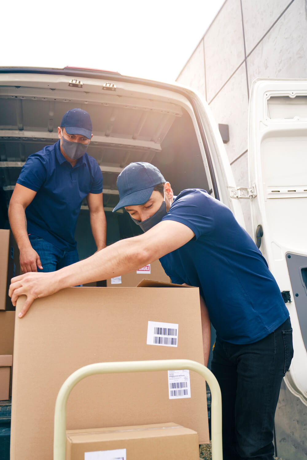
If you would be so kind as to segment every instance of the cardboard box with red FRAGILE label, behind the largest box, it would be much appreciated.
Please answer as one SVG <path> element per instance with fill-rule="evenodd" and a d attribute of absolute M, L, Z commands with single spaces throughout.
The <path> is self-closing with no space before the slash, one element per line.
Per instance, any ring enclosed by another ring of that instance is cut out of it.
<path fill-rule="evenodd" d="M 145 267 L 140 267 L 139 270 L 134 270 L 126 275 L 116 276 L 116 278 L 110 278 L 107 280 L 107 287 L 135 288 L 143 278 L 153 281 L 170 282 L 169 276 L 163 270 L 160 260 L 155 260 L 151 264 L 145 265 Z"/>

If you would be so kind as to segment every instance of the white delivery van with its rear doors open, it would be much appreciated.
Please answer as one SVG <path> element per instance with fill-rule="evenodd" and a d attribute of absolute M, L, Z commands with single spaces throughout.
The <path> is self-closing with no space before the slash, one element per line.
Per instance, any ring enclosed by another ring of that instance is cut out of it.
<path fill-rule="evenodd" d="M 156 165 L 175 194 L 207 190 L 242 226 L 240 199 L 250 200 L 254 238 L 257 232 L 290 311 L 295 353 L 285 382 L 307 404 L 306 81 L 254 81 L 250 182 L 237 188 L 216 121 L 196 92 L 93 69 L 0 68 L 0 185 L 6 205 L 27 157 L 57 141 L 62 116 L 74 107 L 86 109 L 93 121 L 88 153 L 104 176 L 109 244 L 138 232 L 122 210 L 111 213 L 118 201 L 116 178 L 131 161 Z M 84 203 L 76 235 L 81 258 L 95 250 L 87 213 Z M 1 225 L 7 225 L 5 214 Z"/>

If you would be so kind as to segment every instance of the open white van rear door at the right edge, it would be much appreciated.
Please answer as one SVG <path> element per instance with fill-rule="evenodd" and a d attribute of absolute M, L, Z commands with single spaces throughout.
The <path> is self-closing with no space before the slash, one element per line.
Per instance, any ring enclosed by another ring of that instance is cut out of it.
<path fill-rule="evenodd" d="M 256 190 L 250 201 L 254 235 L 258 228 L 260 250 L 293 328 L 294 358 L 285 382 L 307 405 L 306 80 L 253 82 L 248 155 L 249 186 Z"/>

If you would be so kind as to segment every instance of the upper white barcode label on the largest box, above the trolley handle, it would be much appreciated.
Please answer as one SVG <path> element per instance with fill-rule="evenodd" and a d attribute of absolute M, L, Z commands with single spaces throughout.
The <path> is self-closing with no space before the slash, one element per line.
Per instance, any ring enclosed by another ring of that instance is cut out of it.
<path fill-rule="evenodd" d="M 146 343 L 147 345 L 177 346 L 178 324 L 149 321 Z"/>

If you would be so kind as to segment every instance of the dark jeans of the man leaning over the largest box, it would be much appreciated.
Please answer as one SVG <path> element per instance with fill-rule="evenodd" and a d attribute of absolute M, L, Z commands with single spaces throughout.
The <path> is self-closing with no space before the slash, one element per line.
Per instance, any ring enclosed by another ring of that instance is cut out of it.
<path fill-rule="evenodd" d="M 222 393 L 223 460 L 272 460 L 279 390 L 293 357 L 288 318 L 253 344 L 216 338 L 211 370 Z"/>

